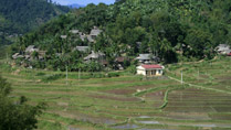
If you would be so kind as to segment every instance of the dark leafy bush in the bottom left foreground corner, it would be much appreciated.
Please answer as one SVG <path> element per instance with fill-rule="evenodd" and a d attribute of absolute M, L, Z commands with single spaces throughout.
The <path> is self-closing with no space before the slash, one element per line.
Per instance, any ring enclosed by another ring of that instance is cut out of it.
<path fill-rule="evenodd" d="M 0 76 L 0 129 L 1 130 L 32 130 L 36 128 L 38 116 L 42 113 L 44 104 L 29 106 L 27 98 L 19 100 L 9 98 L 10 84 Z"/>

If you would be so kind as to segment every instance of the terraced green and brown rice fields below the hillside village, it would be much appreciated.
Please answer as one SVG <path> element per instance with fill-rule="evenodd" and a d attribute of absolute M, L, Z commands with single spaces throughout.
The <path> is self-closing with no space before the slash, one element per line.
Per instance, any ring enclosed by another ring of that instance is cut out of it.
<path fill-rule="evenodd" d="M 0 72 L 12 84 L 12 98 L 24 95 L 31 105 L 48 104 L 39 130 L 230 130 L 230 61 L 168 65 L 167 78 L 153 80 L 125 72 L 118 77 L 69 73 L 66 80 L 62 72 L 11 67 L 3 61 Z"/>

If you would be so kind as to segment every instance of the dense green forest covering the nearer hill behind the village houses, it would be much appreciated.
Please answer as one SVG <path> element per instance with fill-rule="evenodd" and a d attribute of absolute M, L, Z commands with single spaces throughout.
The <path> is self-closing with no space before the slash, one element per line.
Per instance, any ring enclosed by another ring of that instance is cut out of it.
<path fill-rule="evenodd" d="M 87 34 L 94 25 L 103 30 L 94 44 L 60 37 L 72 36 L 73 29 Z M 36 66 L 57 69 L 69 63 L 70 69 L 76 69 L 84 66 L 85 54 L 71 48 L 82 44 L 105 53 L 109 63 L 122 54 L 135 57 L 149 52 L 164 63 L 176 63 L 212 58 L 217 45 L 230 43 L 230 0 L 119 0 L 113 6 L 88 4 L 53 19 L 20 37 L 12 53 L 33 44 L 48 51 L 45 62 Z M 62 58 L 55 53 L 62 53 Z"/>

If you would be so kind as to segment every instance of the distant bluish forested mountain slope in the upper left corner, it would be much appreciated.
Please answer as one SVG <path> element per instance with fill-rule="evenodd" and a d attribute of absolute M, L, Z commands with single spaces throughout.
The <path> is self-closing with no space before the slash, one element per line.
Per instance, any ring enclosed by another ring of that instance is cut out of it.
<path fill-rule="evenodd" d="M 69 10 L 46 0 L 1 0 L 0 44 L 9 44 L 11 37 L 32 31 Z"/>

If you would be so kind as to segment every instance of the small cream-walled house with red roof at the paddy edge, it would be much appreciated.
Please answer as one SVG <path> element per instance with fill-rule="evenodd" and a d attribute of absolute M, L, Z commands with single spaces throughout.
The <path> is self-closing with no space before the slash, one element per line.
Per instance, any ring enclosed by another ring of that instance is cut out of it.
<path fill-rule="evenodd" d="M 144 76 L 161 76 L 164 74 L 164 66 L 160 65 L 140 65 L 138 66 L 137 74 Z"/>

